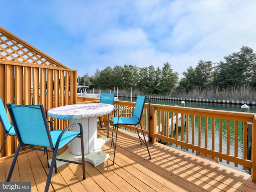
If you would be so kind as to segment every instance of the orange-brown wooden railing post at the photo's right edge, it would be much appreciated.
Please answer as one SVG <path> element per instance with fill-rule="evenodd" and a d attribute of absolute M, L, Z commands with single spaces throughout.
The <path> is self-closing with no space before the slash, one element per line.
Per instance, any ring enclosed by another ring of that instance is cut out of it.
<path fill-rule="evenodd" d="M 256 134 L 256 115 L 253 116 L 252 120 L 252 135 Z M 256 137 L 252 137 L 252 180 L 256 182 Z"/>

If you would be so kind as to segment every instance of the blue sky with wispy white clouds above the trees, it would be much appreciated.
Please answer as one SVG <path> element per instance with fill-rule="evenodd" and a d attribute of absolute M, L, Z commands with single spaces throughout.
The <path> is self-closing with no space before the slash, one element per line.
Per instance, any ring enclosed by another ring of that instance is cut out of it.
<path fill-rule="evenodd" d="M 182 73 L 256 51 L 256 0 L 0 0 L 0 26 L 78 76 L 106 67 Z"/>

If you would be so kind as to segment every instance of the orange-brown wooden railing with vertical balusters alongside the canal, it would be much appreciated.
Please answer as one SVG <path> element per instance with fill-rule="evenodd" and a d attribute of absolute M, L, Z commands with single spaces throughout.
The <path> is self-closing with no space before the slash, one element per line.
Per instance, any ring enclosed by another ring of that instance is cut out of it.
<path fill-rule="evenodd" d="M 95 99 L 92 99 L 95 100 Z M 97 102 L 94 101 L 94 102 Z M 135 102 L 114 101 L 115 108 L 134 109 Z M 125 110 L 123 111 L 125 112 Z M 150 113 L 149 113 L 150 112 Z M 114 114 L 110 114 L 112 117 Z M 151 116 L 151 118 L 150 118 Z M 180 117 L 180 118 L 175 118 Z M 151 119 L 151 120 L 149 120 Z M 175 121 L 174 121 L 175 119 Z M 161 142 L 234 166 L 250 169 L 256 182 L 256 152 L 252 137 L 251 160 L 247 156 L 247 126 L 256 130 L 256 114 L 222 110 L 208 110 L 146 103 L 142 128 L 150 143 Z M 136 132 L 134 126 L 120 128 Z M 138 131 L 141 133 L 140 129 Z"/>

